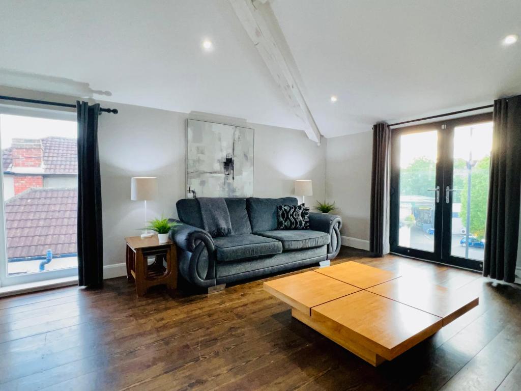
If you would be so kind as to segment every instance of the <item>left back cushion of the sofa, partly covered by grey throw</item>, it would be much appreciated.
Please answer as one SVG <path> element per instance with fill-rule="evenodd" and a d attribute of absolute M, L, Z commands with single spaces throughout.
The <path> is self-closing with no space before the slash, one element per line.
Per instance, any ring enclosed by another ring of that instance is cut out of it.
<path fill-rule="evenodd" d="M 245 235 L 252 233 L 250 219 L 246 212 L 245 198 L 225 198 L 228 212 L 230 213 L 232 235 Z M 204 229 L 201 217 L 201 206 L 195 198 L 179 200 L 176 203 L 179 219 L 194 227 Z"/>

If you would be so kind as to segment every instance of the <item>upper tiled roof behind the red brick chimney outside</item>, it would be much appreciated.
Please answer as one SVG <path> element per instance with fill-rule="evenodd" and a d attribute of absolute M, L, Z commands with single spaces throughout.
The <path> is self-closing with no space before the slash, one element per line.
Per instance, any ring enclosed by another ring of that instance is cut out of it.
<path fill-rule="evenodd" d="M 77 174 L 78 144 L 76 139 L 66 137 L 45 137 L 41 139 L 43 149 L 44 174 Z M 13 164 L 11 148 L 3 151 L 4 171 Z"/>

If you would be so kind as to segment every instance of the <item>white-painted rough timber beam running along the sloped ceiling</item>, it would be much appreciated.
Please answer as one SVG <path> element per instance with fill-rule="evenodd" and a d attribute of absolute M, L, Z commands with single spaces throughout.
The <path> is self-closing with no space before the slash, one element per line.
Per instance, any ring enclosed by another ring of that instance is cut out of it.
<path fill-rule="evenodd" d="M 265 20 L 258 8 L 269 7 L 267 0 L 229 0 L 235 14 L 242 23 L 253 44 L 261 54 L 271 76 L 281 89 L 288 100 L 292 111 L 297 117 L 302 119 L 304 130 L 309 139 L 320 143 L 320 131 L 318 130 L 315 119 L 309 111 L 306 100 L 302 94 L 290 67 L 284 58 L 274 34 L 270 31 L 269 23 Z M 276 21 L 270 21 L 274 23 Z"/>

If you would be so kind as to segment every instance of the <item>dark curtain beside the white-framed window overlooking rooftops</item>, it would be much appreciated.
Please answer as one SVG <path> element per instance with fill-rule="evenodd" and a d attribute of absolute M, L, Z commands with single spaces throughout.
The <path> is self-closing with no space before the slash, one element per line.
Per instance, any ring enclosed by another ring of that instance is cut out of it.
<path fill-rule="evenodd" d="M 78 108 L 78 285 L 103 283 L 100 155 L 97 124 L 100 105 Z"/>

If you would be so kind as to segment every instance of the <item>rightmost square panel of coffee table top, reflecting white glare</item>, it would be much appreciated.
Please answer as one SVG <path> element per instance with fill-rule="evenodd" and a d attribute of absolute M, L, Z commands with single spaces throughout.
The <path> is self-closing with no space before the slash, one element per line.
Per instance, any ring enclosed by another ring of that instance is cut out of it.
<path fill-rule="evenodd" d="M 465 289 L 453 290 L 404 277 L 367 288 L 367 290 L 439 316 L 443 318 L 444 326 L 478 305 L 478 298 Z"/>

